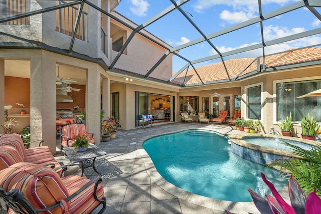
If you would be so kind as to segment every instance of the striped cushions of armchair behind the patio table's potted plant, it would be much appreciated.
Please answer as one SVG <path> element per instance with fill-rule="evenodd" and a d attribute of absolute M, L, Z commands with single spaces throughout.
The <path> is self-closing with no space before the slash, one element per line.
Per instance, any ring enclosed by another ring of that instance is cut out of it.
<path fill-rule="evenodd" d="M 72 144 L 75 142 L 74 136 L 79 135 L 79 134 L 84 134 L 87 133 L 86 131 L 86 126 L 84 124 L 71 124 L 71 125 L 66 125 L 62 128 L 62 135 L 69 137 L 68 144 L 67 145 L 67 138 L 63 137 L 62 138 L 62 143 L 61 145 L 63 147 L 67 146 L 72 146 Z M 91 136 L 91 134 L 88 134 L 88 141 L 89 143 L 95 143 L 95 138 Z"/>

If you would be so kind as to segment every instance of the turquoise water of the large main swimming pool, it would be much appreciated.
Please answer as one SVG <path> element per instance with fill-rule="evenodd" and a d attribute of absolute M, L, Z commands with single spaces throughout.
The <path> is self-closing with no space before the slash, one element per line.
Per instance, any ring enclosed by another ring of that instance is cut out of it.
<path fill-rule="evenodd" d="M 252 201 L 247 187 L 262 196 L 269 192 L 261 172 L 277 190 L 287 184 L 278 171 L 232 153 L 227 140 L 216 132 L 188 130 L 148 139 L 143 148 L 167 181 L 206 197 Z"/>

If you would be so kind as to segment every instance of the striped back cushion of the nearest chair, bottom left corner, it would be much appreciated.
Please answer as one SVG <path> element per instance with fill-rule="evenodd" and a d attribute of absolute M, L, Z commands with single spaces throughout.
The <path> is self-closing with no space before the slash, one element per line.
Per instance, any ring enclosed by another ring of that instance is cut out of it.
<path fill-rule="evenodd" d="M 26 162 L 15 163 L 0 171 L 0 187 L 6 191 L 18 188 L 38 209 L 51 206 L 69 196 L 62 179 L 53 169 Z M 69 206 L 69 202 L 67 205 Z M 44 213 L 62 213 L 63 208 L 58 206 L 50 211 Z"/>

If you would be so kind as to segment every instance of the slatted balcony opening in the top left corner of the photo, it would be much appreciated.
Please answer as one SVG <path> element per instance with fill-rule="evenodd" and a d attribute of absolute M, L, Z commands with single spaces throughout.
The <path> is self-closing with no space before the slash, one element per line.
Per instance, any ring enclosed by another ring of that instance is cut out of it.
<path fill-rule="evenodd" d="M 0 0 L 0 3 L 3 6 L 2 14 L 0 12 L 2 18 L 30 12 L 30 0 Z M 12 20 L 3 25 L 30 25 L 30 18 Z"/>

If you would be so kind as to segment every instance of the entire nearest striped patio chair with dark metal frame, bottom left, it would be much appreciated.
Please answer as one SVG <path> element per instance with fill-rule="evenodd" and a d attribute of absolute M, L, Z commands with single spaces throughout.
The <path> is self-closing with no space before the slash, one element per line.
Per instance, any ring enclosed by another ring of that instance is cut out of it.
<path fill-rule="evenodd" d="M 26 162 L 0 171 L 0 199 L 10 214 L 91 213 L 101 204 L 98 213 L 106 209 L 101 178 L 61 178 L 51 168 Z"/>

